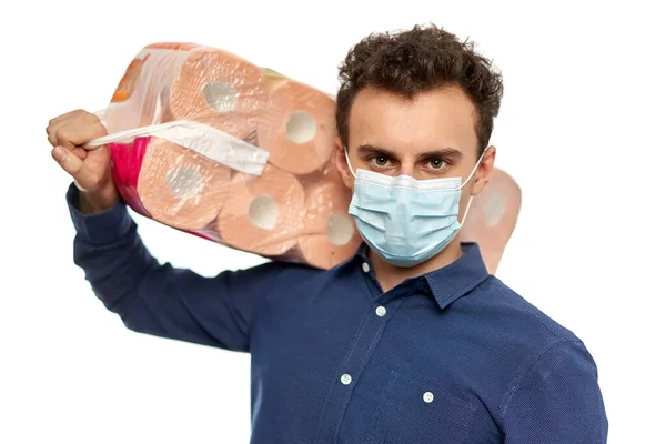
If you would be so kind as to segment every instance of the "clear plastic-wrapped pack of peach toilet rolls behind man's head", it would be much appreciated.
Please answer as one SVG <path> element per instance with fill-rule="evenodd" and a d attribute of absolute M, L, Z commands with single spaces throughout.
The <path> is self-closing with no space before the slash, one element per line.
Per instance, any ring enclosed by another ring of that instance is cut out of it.
<path fill-rule="evenodd" d="M 335 101 L 322 91 L 221 49 L 154 43 L 130 62 L 100 117 L 109 137 L 91 144 L 109 145 L 113 180 L 139 214 L 322 269 L 361 243 L 347 213 L 351 191 L 334 164 Z M 515 182 L 501 174 L 482 194 L 497 201 L 497 183 L 504 201 L 515 203 L 516 192 L 519 201 Z M 505 203 L 501 215 L 495 204 L 502 222 L 491 230 L 483 195 L 462 238 L 481 241 L 491 269 L 519 204 Z"/>

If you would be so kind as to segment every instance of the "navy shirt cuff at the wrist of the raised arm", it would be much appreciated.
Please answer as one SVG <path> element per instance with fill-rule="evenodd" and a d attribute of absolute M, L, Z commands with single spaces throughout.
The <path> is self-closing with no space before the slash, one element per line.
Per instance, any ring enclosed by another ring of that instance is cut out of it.
<path fill-rule="evenodd" d="M 114 243 L 127 238 L 134 225 L 122 199 L 102 213 L 82 214 L 79 211 L 79 189 L 73 182 L 67 191 L 67 204 L 77 235 L 90 244 Z"/>

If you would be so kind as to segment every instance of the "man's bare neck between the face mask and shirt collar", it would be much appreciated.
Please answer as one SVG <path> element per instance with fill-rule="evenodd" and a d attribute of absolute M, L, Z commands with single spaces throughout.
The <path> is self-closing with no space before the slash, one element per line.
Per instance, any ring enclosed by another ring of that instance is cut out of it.
<path fill-rule="evenodd" d="M 375 278 L 384 292 L 387 292 L 410 278 L 416 278 L 452 264 L 461 255 L 462 248 L 457 235 L 438 254 L 418 265 L 410 268 L 395 266 L 370 249 L 370 262 L 374 269 Z"/>

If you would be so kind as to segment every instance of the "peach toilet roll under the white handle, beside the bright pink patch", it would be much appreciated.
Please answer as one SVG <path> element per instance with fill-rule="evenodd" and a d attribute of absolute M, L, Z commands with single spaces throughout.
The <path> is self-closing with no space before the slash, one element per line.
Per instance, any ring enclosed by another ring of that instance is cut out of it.
<path fill-rule="evenodd" d="M 231 169 L 161 139 L 151 139 L 137 193 L 150 216 L 180 230 L 201 230 L 224 206 Z"/>

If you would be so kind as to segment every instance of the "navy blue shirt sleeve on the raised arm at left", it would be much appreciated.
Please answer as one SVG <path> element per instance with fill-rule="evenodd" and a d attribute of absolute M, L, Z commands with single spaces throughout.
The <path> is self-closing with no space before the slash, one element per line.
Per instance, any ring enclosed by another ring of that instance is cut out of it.
<path fill-rule="evenodd" d="M 135 332 L 248 352 L 253 313 L 295 268 L 270 262 L 204 278 L 158 263 L 122 201 L 103 213 L 83 215 L 75 186 L 67 200 L 77 233 L 74 263 L 105 307 Z"/>

